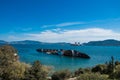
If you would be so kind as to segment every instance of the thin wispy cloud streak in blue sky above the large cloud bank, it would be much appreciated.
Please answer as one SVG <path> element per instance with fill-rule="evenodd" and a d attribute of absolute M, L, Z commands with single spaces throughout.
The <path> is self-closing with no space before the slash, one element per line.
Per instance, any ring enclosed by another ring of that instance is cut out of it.
<path fill-rule="evenodd" d="M 84 22 L 65 22 L 65 23 L 60 23 L 60 24 L 43 25 L 42 28 L 65 27 L 65 26 L 74 26 L 74 25 L 80 25 L 80 24 L 84 24 Z"/>

